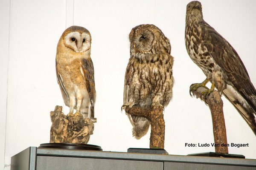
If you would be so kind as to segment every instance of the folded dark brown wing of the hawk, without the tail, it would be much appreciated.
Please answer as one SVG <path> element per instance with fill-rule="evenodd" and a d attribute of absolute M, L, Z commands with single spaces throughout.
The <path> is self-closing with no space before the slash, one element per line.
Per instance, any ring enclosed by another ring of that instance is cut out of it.
<path fill-rule="evenodd" d="M 209 54 L 227 75 L 233 87 L 246 99 L 256 112 L 256 90 L 250 81 L 244 63 L 241 61 L 236 50 L 214 28 L 204 24 L 207 38 L 203 44 Z"/>

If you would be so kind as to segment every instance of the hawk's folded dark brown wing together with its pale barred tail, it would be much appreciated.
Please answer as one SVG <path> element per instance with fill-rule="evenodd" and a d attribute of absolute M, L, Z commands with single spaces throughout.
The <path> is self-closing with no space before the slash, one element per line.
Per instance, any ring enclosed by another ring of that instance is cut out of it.
<path fill-rule="evenodd" d="M 226 91 L 224 90 L 225 96 L 238 109 L 241 116 L 252 127 L 254 133 L 256 133 L 256 90 L 250 81 L 243 62 L 236 50 L 214 28 L 206 22 L 202 23 L 201 28 L 202 32 L 205 33 L 201 36 L 203 45 L 207 48 L 212 59 L 214 59 L 227 76 L 228 82 L 226 83 L 230 85 L 228 88 L 232 87 L 234 89 L 229 90 L 227 88 Z M 239 95 L 231 95 L 231 93 L 236 92 L 241 94 L 252 110 L 243 108 L 242 103 L 239 103 L 239 99 L 236 98 Z"/>

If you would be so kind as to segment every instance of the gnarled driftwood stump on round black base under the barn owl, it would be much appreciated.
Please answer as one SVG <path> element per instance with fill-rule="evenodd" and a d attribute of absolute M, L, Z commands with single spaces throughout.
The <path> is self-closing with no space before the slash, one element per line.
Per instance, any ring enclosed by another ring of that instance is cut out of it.
<path fill-rule="evenodd" d="M 62 106 L 56 106 L 51 114 L 50 143 L 86 144 L 93 133 L 93 122 L 82 115 L 66 116 Z"/>

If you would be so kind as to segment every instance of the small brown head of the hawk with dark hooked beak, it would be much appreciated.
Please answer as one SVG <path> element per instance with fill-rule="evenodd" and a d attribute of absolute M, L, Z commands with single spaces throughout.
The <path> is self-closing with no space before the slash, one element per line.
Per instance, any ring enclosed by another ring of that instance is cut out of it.
<path fill-rule="evenodd" d="M 202 5 L 199 1 L 191 1 L 186 7 L 186 20 L 188 17 L 203 19 Z"/>

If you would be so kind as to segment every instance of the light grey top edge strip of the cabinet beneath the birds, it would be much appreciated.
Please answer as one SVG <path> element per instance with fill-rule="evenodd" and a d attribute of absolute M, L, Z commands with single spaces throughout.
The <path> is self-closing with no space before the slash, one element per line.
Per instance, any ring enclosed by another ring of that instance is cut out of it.
<path fill-rule="evenodd" d="M 229 164 L 255 166 L 256 159 L 236 159 L 236 158 L 219 158 L 208 156 L 180 156 L 180 155 L 160 155 L 160 154 L 142 154 L 142 153 L 125 153 L 93 150 L 67 150 L 52 148 L 34 149 L 37 156 L 67 156 L 67 157 L 84 157 L 84 158 L 102 158 L 102 159 L 128 159 L 144 161 L 171 161 L 187 163 L 204 163 L 204 164 Z"/>

